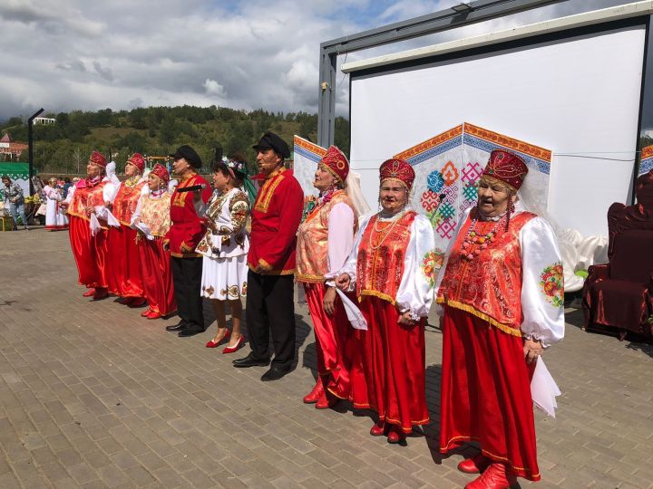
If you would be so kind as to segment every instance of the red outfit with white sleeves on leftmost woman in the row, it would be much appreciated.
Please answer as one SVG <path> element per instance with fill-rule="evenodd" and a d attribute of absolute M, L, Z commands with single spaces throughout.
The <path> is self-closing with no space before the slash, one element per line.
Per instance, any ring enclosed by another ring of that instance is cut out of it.
<path fill-rule="evenodd" d="M 109 178 L 85 178 L 70 188 L 65 199 L 68 203 L 70 241 L 79 273 L 78 281 L 89 289 L 107 287 L 107 223 L 104 202 L 111 199 L 112 193 Z M 99 223 L 94 234 L 91 216 L 86 214 L 89 206 L 94 207 Z"/>

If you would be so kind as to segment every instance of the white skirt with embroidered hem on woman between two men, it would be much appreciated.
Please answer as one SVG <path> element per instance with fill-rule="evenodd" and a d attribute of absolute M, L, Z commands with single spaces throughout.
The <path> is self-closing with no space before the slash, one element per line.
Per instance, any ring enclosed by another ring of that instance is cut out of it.
<path fill-rule="evenodd" d="M 231 258 L 202 258 L 202 297 L 235 301 L 247 295 L 247 254 Z"/>

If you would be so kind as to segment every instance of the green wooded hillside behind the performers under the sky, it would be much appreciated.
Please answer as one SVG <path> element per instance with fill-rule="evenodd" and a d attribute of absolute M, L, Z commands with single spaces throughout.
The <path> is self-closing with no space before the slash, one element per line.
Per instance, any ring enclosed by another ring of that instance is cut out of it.
<path fill-rule="evenodd" d="M 132 110 L 73 110 L 49 113 L 52 125 L 34 126 L 34 168 L 46 173 L 84 173 L 93 149 L 108 154 L 111 149 L 119 170 L 132 153 L 165 156 L 182 144 L 190 144 L 208 164 L 221 148 L 225 154 L 240 151 L 254 169 L 251 146 L 268 129 L 288 144 L 293 135 L 317 142 L 317 114 L 234 110 L 226 107 L 147 107 Z M 23 117 L 0 124 L 14 141 L 27 141 Z M 336 145 L 349 154 L 349 121 L 336 118 Z M 21 161 L 27 161 L 26 151 Z M 208 165 L 207 165 L 208 168 Z"/>

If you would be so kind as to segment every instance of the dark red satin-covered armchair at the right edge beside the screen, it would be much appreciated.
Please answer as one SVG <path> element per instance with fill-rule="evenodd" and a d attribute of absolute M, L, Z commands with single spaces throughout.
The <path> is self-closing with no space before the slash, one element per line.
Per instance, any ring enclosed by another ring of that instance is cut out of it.
<path fill-rule="evenodd" d="M 653 170 L 638 178 L 638 205 L 608 211 L 608 264 L 590 266 L 583 285 L 585 329 L 653 336 Z"/>

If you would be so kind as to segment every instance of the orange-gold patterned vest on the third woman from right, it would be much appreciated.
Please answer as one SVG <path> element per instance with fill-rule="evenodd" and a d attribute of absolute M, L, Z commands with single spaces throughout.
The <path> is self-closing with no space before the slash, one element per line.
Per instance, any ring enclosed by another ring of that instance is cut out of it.
<path fill-rule="evenodd" d="M 297 282 L 323 283 L 325 281 L 324 276 L 328 272 L 328 216 L 333 206 L 340 202 L 354 210 L 345 190 L 337 190 L 327 204 L 317 206 L 299 225 L 295 272 Z M 354 233 L 356 233 L 357 221 L 356 211 L 354 211 Z"/>

